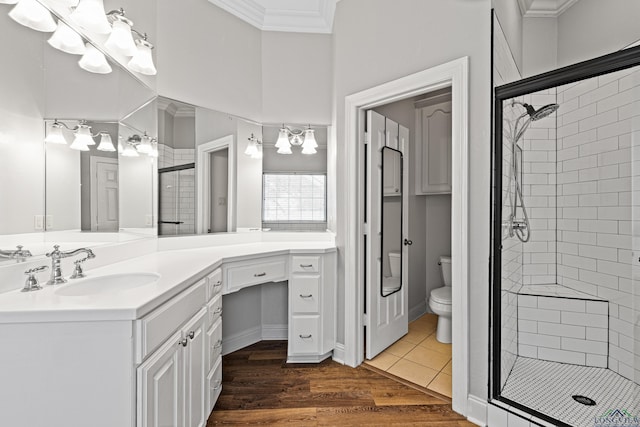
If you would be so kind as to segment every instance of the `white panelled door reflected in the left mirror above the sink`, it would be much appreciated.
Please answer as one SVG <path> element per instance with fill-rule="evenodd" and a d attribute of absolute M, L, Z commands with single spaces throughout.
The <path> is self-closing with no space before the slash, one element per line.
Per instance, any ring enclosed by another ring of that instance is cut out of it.
<path fill-rule="evenodd" d="M 118 231 L 118 159 L 91 158 L 91 230 Z"/>

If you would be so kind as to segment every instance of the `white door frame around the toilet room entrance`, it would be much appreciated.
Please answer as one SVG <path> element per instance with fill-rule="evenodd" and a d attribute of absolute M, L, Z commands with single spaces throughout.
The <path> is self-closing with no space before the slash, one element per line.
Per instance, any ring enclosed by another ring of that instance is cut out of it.
<path fill-rule="evenodd" d="M 345 236 L 344 362 L 364 360 L 364 166 L 365 111 L 422 93 L 451 87 L 452 108 L 452 406 L 466 416 L 469 392 L 469 57 L 402 77 L 345 97 L 347 227 Z"/>

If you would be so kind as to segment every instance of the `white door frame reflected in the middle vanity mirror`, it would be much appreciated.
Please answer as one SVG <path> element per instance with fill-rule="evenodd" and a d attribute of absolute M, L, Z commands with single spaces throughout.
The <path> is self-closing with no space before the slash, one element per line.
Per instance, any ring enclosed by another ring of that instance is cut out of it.
<path fill-rule="evenodd" d="M 236 160 L 233 135 L 227 135 L 213 141 L 200 144 L 196 152 L 196 233 L 203 234 L 209 228 L 211 204 L 211 153 L 228 149 L 227 157 L 227 231 L 235 230 L 235 192 Z"/>

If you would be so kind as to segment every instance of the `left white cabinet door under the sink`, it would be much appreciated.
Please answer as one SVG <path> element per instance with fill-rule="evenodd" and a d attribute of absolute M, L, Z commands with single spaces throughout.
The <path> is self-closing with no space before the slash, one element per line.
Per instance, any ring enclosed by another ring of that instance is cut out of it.
<path fill-rule="evenodd" d="M 174 427 L 184 420 L 184 350 L 177 332 L 138 367 L 138 427 Z"/>

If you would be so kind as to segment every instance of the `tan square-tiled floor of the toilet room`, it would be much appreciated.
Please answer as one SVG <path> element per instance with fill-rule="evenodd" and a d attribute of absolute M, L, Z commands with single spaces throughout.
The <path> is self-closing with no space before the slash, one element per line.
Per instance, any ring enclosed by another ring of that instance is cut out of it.
<path fill-rule="evenodd" d="M 409 323 L 409 333 L 365 363 L 428 390 L 451 397 L 451 344 L 436 340 L 438 316 Z"/>

